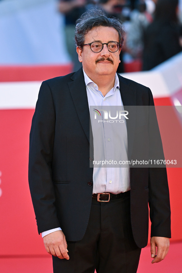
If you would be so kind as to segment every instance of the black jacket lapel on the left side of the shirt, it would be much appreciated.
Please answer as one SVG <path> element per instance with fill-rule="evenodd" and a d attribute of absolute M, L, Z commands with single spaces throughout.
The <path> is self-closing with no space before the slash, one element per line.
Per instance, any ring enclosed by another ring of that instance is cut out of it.
<path fill-rule="evenodd" d="M 88 141 L 90 141 L 90 113 L 83 68 L 80 68 L 71 76 L 71 80 L 68 82 L 68 86 L 70 88 L 71 96 L 83 131 L 85 132 Z"/>

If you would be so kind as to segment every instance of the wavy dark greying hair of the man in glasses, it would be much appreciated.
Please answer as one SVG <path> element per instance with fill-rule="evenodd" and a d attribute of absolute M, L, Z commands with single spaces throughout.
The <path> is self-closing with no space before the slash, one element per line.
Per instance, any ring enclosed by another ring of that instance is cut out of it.
<path fill-rule="evenodd" d="M 124 41 L 123 23 L 115 17 L 108 17 L 102 9 L 92 8 L 83 13 L 82 16 L 76 21 L 75 29 L 75 43 L 76 46 L 83 48 L 85 35 L 93 27 L 97 26 L 110 26 L 115 28 L 119 35 L 119 43 L 121 47 Z"/>

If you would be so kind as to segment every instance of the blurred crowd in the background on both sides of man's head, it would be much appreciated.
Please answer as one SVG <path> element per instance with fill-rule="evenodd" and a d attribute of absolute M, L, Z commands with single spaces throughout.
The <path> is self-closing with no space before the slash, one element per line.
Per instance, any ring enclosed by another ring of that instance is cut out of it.
<path fill-rule="evenodd" d="M 123 21 L 125 43 L 118 72 L 124 72 L 123 63 L 133 61 L 136 70 L 149 70 L 182 50 L 182 10 L 178 0 L 61 0 L 59 11 L 65 15 L 67 49 L 74 70 L 80 67 L 72 39 L 75 22 L 93 6 Z"/>

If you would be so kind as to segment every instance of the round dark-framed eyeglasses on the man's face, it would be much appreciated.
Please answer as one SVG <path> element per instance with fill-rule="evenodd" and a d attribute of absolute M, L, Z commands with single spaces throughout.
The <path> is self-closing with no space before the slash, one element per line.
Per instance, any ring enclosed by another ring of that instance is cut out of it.
<path fill-rule="evenodd" d="M 111 41 L 109 43 L 101 43 L 101 42 L 92 42 L 89 44 L 84 44 L 83 46 L 89 45 L 91 48 L 91 51 L 98 53 L 103 49 L 104 45 L 107 45 L 108 51 L 110 52 L 116 52 L 119 49 L 119 46 L 121 46 L 121 43 Z"/>

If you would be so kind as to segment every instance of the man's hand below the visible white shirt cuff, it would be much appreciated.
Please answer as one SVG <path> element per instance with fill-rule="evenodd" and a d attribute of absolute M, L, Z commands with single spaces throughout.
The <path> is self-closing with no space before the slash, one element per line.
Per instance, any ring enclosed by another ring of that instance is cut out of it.
<path fill-rule="evenodd" d="M 54 231 L 43 237 L 44 246 L 47 252 L 59 259 L 69 260 L 67 254 L 67 242 L 62 230 Z"/>

